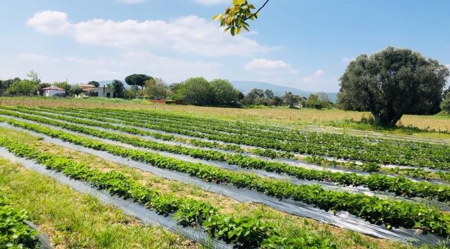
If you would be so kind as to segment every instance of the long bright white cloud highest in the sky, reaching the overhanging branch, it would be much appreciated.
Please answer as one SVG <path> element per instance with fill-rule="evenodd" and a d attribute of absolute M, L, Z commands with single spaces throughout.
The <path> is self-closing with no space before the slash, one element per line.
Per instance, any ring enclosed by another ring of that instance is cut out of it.
<path fill-rule="evenodd" d="M 36 12 L 28 26 L 48 35 L 65 35 L 80 44 L 139 50 L 170 48 L 204 56 L 249 55 L 269 50 L 248 37 L 224 34 L 217 23 L 189 15 L 171 21 L 90 19 L 71 23 L 66 13 Z"/>

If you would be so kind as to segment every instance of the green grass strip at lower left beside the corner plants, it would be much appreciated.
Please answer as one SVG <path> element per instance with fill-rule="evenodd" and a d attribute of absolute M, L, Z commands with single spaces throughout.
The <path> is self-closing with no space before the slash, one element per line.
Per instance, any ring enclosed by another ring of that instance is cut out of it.
<path fill-rule="evenodd" d="M 98 199 L 0 158 L 0 192 L 62 248 L 198 248 Z"/>

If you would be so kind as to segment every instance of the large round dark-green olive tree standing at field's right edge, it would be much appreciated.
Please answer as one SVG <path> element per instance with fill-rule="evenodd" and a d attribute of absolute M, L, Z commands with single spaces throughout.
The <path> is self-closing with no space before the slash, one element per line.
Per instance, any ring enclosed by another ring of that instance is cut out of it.
<path fill-rule="evenodd" d="M 405 113 L 432 112 L 442 100 L 449 69 L 406 48 L 359 55 L 340 78 L 338 104 L 370 111 L 378 124 L 394 126 Z"/>

